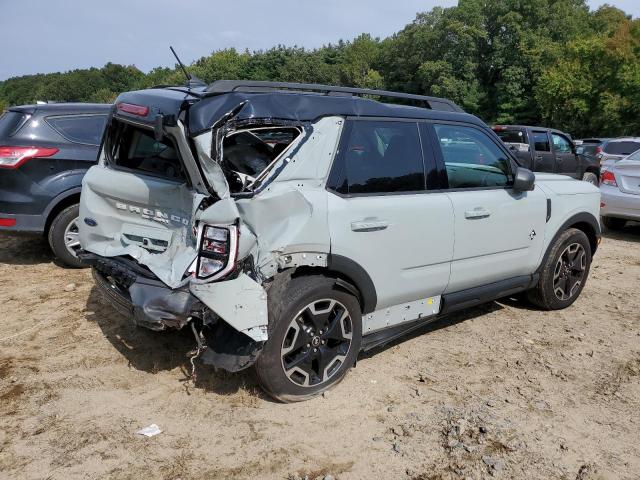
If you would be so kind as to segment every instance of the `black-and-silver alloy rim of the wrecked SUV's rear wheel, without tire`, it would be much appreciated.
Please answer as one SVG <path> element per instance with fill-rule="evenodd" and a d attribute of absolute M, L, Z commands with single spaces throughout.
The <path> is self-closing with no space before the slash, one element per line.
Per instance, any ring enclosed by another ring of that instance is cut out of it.
<path fill-rule="evenodd" d="M 330 381 L 351 348 L 353 324 L 349 310 L 333 299 L 316 300 L 293 318 L 282 341 L 282 368 L 301 387 Z"/>

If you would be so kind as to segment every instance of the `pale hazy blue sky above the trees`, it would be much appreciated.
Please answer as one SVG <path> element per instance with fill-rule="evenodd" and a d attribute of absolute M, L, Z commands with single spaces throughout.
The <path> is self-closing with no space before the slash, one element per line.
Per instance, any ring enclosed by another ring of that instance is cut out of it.
<path fill-rule="evenodd" d="M 589 0 L 592 8 L 605 2 Z M 634 17 L 640 0 L 609 0 Z M 17 75 L 191 63 L 221 48 L 320 47 L 360 33 L 384 38 L 457 0 L 0 0 L 0 80 Z"/>

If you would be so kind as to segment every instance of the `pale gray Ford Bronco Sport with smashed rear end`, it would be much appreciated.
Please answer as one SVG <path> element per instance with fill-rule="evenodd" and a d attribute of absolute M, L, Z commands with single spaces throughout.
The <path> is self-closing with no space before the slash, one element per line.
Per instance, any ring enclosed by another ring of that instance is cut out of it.
<path fill-rule="evenodd" d="M 79 257 L 136 325 L 190 328 L 205 363 L 298 401 L 450 312 L 519 292 L 571 305 L 599 206 L 448 100 L 218 81 L 120 95 Z"/>

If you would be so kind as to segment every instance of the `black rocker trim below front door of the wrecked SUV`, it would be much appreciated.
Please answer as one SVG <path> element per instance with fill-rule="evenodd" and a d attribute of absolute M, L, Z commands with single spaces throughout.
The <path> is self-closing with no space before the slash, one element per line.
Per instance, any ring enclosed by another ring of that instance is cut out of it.
<path fill-rule="evenodd" d="M 522 275 L 481 287 L 469 288 L 460 292 L 448 293 L 442 296 L 441 314 L 451 313 L 481 303 L 497 300 L 515 293 L 529 290 L 538 283 L 538 274 Z"/>

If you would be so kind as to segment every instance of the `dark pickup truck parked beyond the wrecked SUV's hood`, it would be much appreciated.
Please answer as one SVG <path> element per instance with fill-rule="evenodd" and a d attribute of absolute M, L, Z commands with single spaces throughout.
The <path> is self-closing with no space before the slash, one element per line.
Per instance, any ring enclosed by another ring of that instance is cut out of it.
<path fill-rule="evenodd" d="M 600 166 L 578 155 L 569 134 L 524 125 L 496 125 L 493 131 L 509 146 L 520 166 L 534 172 L 568 175 L 598 185 Z"/>

